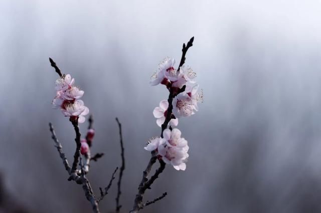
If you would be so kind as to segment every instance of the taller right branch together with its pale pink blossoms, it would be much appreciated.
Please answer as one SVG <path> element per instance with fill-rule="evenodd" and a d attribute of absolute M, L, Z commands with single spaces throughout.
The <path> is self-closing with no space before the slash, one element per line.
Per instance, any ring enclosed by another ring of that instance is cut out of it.
<path fill-rule="evenodd" d="M 182 49 L 182 58 L 179 64 L 178 69 L 174 68 L 175 60 L 166 58 L 158 65 L 158 71 L 152 75 L 152 79 L 150 81 L 151 86 L 155 86 L 157 84 L 163 84 L 167 87 L 170 94 L 168 100 L 163 100 L 159 104 L 159 107 L 156 107 L 153 110 L 153 115 L 157 118 L 156 123 L 158 126 L 162 127 L 161 137 L 152 138 L 148 141 L 147 145 L 144 147 L 147 151 L 151 151 L 151 157 L 147 164 L 146 169 L 143 171 L 142 179 L 138 186 L 138 193 L 135 196 L 134 205 L 131 209 L 131 213 L 135 213 L 142 209 L 144 206 L 154 203 L 155 201 L 162 199 L 167 195 L 164 193 L 163 196 L 156 198 L 152 202 L 147 202 L 145 204 L 142 203 L 143 194 L 145 190 L 150 189 L 151 184 L 158 178 L 159 174 L 161 174 L 167 163 L 170 163 L 177 170 L 185 170 L 186 164 L 185 161 L 188 158 L 188 145 L 187 141 L 184 138 L 181 138 L 181 131 L 178 129 L 172 129 L 173 126 L 178 125 L 178 117 L 179 113 L 177 111 L 182 112 L 184 115 L 191 115 L 193 110 L 196 109 L 192 102 L 192 98 L 186 101 L 184 99 L 175 99 L 181 94 L 185 94 L 185 90 L 189 84 L 193 84 L 193 78 L 195 78 L 195 73 L 191 71 L 191 69 L 187 69 L 183 67 L 186 60 L 186 53 L 190 47 L 193 46 L 194 37 L 190 39 L 187 45 L 183 44 Z M 173 106 L 173 100 L 175 100 L 175 105 Z M 191 104 L 190 104 L 191 103 Z M 189 108 L 188 104 L 191 105 Z M 175 109 L 175 114 L 173 113 L 173 109 Z M 168 128 L 170 123 L 170 128 Z M 158 159 L 159 167 L 155 170 L 155 173 L 148 179 L 148 175 L 152 168 L 152 165 Z"/>

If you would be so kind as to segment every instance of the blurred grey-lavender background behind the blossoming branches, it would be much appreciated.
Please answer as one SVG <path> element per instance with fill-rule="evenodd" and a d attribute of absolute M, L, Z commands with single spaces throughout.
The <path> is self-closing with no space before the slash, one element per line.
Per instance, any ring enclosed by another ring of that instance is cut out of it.
<path fill-rule="evenodd" d="M 150 76 L 163 58 L 179 61 L 192 36 L 186 64 L 205 97 L 178 126 L 189 141 L 187 170 L 168 166 L 144 198 L 168 196 L 142 211 L 321 212 L 320 8 L 289 0 L 1 1 L 0 212 L 11 212 L 10 202 L 30 212 L 91 212 L 49 132 L 52 122 L 71 162 L 75 133 L 52 109 L 58 75 L 49 57 L 85 91 L 92 153 L 105 152 L 88 174 L 97 194 L 121 163 L 121 121 L 128 212 L 150 157 L 143 146 L 160 134 L 152 110 L 168 96 L 149 86 Z M 115 196 L 113 184 L 102 212 L 115 208 Z"/>

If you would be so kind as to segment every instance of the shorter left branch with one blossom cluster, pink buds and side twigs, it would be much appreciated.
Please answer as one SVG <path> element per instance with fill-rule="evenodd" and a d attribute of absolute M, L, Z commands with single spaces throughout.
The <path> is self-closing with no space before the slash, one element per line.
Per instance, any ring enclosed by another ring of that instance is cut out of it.
<path fill-rule="evenodd" d="M 70 175 L 68 180 L 74 180 L 76 183 L 82 185 L 82 188 L 85 192 L 85 196 L 87 200 L 91 203 L 93 212 L 100 213 L 98 202 L 107 194 L 107 191 L 111 186 L 112 180 L 114 179 L 114 174 L 118 168 L 116 168 L 115 171 L 113 172 L 112 178 L 108 186 L 105 188 L 105 192 L 103 192 L 102 189 L 100 188 L 101 197 L 99 199 L 96 199 L 95 194 L 90 185 L 90 182 L 86 177 L 86 173 L 89 171 L 89 162 L 92 159 L 90 157 L 89 148 L 92 145 L 92 139 L 95 133 L 94 130 L 92 129 L 92 123 L 93 123 L 92 116 L 90 116 L 88 120 L 89 126 L 88 126 L 86 139 L 81 139 L 81 133 L 78 126 L 79 123 L 82 123 L 85 121 L 84 115 L 87 115 L 89 112 L 89 109 L 84 106 L 83 101 L 79 100 L 79 98 L 81 98 L 82 95 L 84 94 L 84 91 L 80 90 L 78 87 L 73 86 L 75 80 L 71 78 L 69 74 L 68 75 L 62 74 L 60 69 L 56 65 L 56 63 L 51 58 L 50 58 L 50 63 L 51 63 L 51 66 L 55 68 L 56 72 L 60 76 L 60 78 L 56 80 L 57 92 L 56 92 L 56 97 L 54 98 L 52 103 L 55 108 L 60 108 L 62 113 L 65 116 L 69 117 L 69 120 L 72 123 L 76 133 L 76 137 L 75 137 L 76 150 L 74 153 L 74 160 L 73 160 L 72 166 L 68 164 L 67 158 L 62 151 L 62 146 L 56 136 L 53 125 L 49 123 L 50 131 L 52 133 L 52 139 L 54 140 L 57 150 L 59 152 L 59 155 L 63 160 L 65 168 L 68 171 L 68 174 Z M 85 164 L 83 164 L 82 162 L 82 158 L 81 158 L 82 155 L 84 155 L 86 158 Z M 98 153 L 94 156 L 93 159 L 96 161 L 102 155 L 103 153 Z M 79 163 L 80 169 L 77 169 L 78 163 Z"/>

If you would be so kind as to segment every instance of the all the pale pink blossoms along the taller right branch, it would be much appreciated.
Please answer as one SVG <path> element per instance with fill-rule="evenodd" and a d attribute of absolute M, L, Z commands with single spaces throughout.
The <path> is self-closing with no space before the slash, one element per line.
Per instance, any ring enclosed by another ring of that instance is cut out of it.
<path fill-rule="evenodd" d="M 198 111 L 197 104 L 203 102 L 203 92 L 198 92 L 199 85 L 194 80 L 196 74 L 191 68 L 183 65 L 177 70 L 174 64 L 174 59 L 164 59 L 158 65 L 158 71 L 152 75 L 150 81 L 152 86 L 166 85 L 171 93 L 171 100 L 169 98 L 169 100 L 161 101 L 159 106 L 153 110 L 157 125 L 162 127 L 165 122 L 168 122 L 170 128 L 163 131 L 163 138 L 150 139 L 144 149 L 156 151 L 158 158 L 165 163 L 172 164 L 177 170 L 185 170 L 185 162 L 189 156 L 188 142 L 181 137 L 181 131 L 177 128 L 172 129 L 172 126 L 178 125 L 178 118 L 191 116 Z M 172 102 L 171 109 L 169 101 Z"/>

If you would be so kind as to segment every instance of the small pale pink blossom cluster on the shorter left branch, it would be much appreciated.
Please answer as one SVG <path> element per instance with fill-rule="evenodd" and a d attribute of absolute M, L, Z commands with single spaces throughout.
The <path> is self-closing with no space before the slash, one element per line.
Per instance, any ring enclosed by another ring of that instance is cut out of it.
<path fill-rule="evenodd" d="M 85 122 L 85 115 L 89 113 L 88 107 L 80 100 L 84 91 L 79 87 L 74 86 L 75 79 L 71 76 L 64 75 L 63 78 L 56 80 L 56 96 L 52 101 L 55 109 L 60 109 L 61 112 L 72 120 L 78 119 L 78 123 Z"/>

